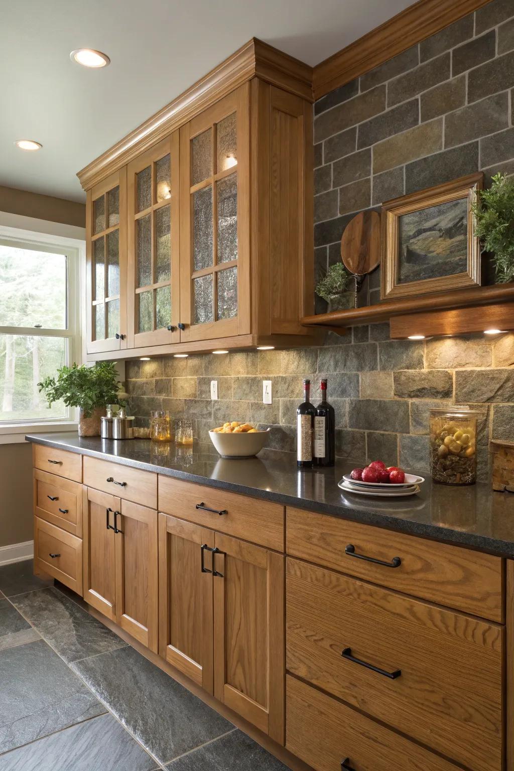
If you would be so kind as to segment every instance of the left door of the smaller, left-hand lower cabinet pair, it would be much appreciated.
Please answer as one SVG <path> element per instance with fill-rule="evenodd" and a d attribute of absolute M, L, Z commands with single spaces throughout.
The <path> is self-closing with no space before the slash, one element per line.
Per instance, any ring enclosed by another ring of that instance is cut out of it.
<path fill-rule="evenodd" d="M 116 621 L 114 513 L 120 500 L 84 487 L 82 499 L 84 599 Z"/>

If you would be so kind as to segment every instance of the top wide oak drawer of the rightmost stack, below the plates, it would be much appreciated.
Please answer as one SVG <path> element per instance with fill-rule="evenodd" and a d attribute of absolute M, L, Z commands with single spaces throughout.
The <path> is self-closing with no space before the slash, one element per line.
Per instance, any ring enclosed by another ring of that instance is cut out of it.
<path fill-rule="evenodd" d="M 286 544 L 287 554 L 294 557 L 492 621 L 504 620 L 500 557 L 289 507 Z M 400 558 L 398 567 L 392 567 L 395 557 Z"/>

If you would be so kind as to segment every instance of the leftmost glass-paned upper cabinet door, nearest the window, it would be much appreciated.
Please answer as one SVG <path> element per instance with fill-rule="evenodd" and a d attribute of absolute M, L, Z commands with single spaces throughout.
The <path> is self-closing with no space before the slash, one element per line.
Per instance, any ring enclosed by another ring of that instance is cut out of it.
<path fill-rule="evenodd" d="M 88 191 L 86 265 L 87 353 L 126 348 L 125 167 Z"/>

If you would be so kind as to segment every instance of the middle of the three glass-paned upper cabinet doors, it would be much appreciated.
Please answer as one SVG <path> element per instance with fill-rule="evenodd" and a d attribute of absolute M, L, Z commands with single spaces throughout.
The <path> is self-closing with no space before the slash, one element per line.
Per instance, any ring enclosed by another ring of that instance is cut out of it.
<path fill-rule="evenodd" d="M 127 166 L 129 348 L 180 341 L 179 133 Z"/>

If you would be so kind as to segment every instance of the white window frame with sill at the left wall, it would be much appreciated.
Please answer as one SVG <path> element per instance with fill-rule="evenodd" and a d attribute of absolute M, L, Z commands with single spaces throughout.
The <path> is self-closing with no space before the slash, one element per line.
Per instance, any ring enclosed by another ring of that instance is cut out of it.
<path fill-rule="evenodd" d="M 68 365 L 72 362 L 82 363 L 81 346 L 81 293 L 82 262 L 85 258 L 85 244 L 75 238 L 67 238 L 45 233 L 32 233 L 14 227 L 0 225 L 0 244 L 19 249 L 32 249 L 52 254 L 66 254 L 67 259 L 67 329 L 45 329 L 35 327 L 2 327 L 0 334 L 31 335 L 33 337 L 66 338 L 66 359 Z M 25 441 L 25 433 L 33 431 L 55 432 L 72 431 L 76 429 L 78 416 L 73 407 L 66 408 L 65 418 L 42 418 L 29 420 L 13 420 L 12 423 L 0 423 L 0 444 Z"/>

